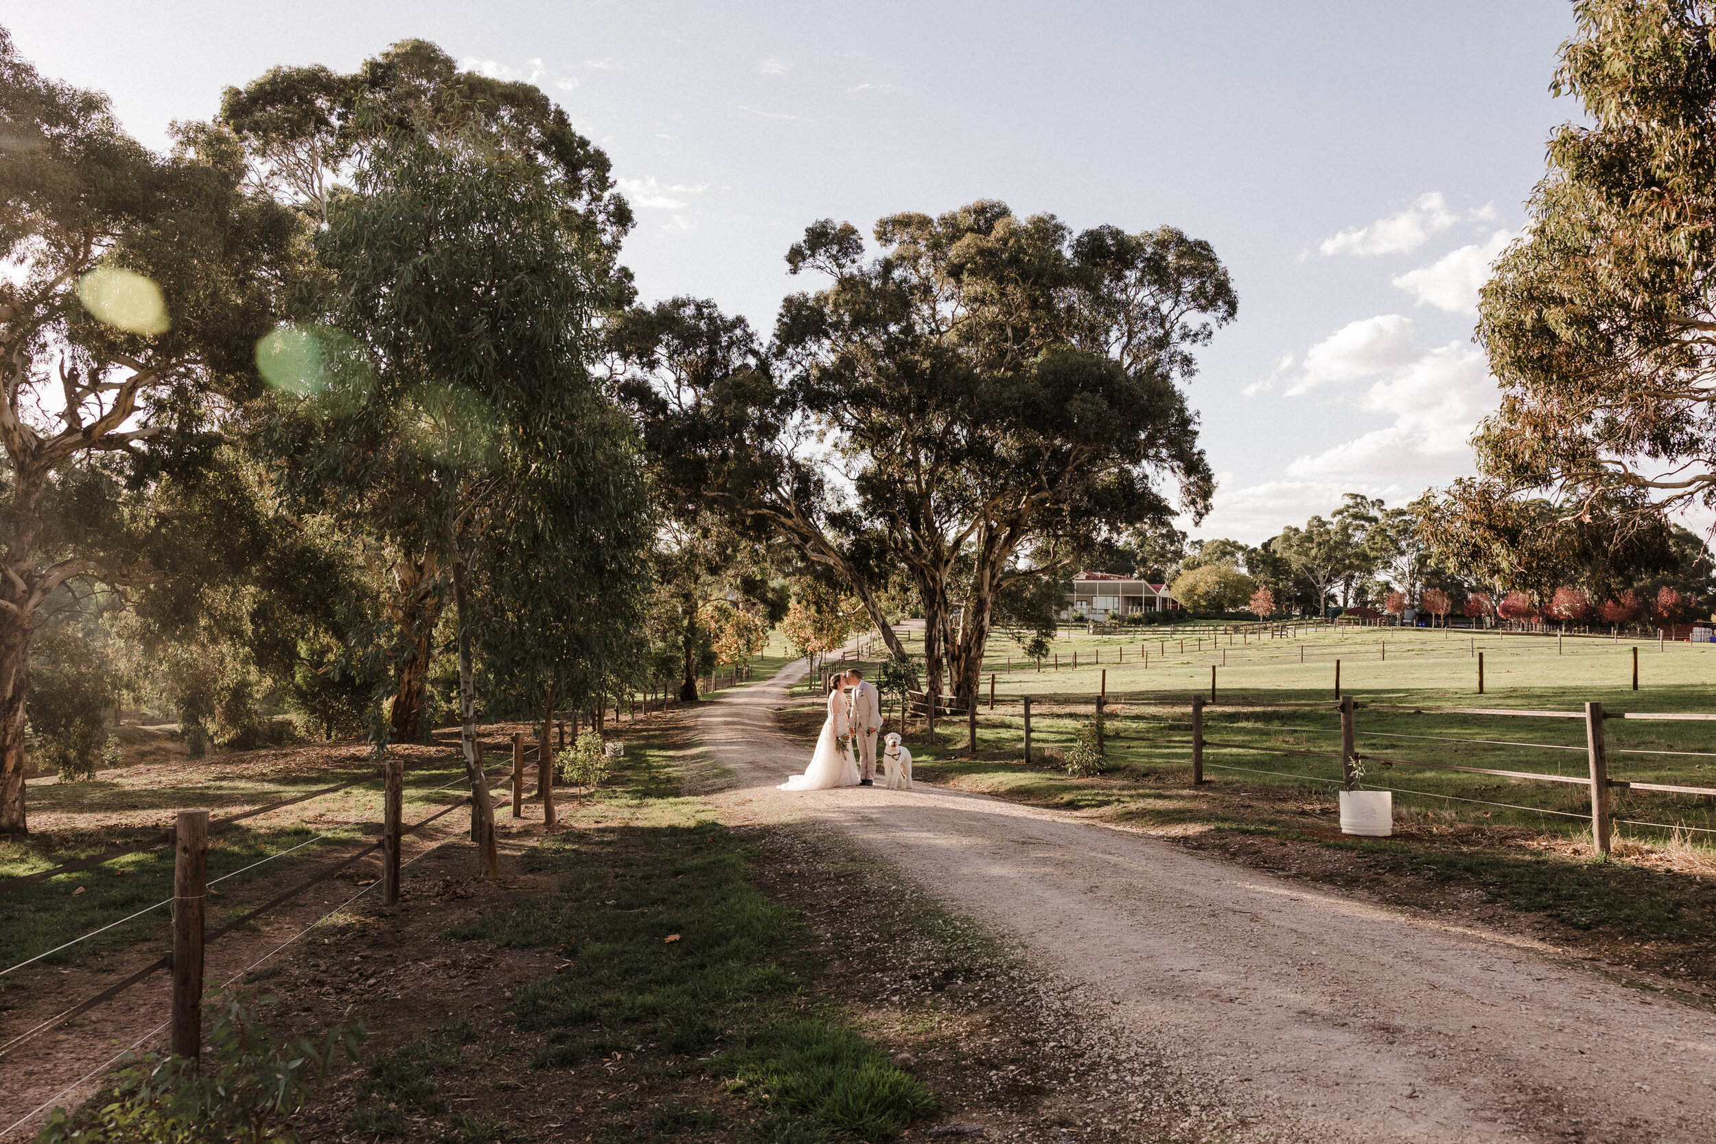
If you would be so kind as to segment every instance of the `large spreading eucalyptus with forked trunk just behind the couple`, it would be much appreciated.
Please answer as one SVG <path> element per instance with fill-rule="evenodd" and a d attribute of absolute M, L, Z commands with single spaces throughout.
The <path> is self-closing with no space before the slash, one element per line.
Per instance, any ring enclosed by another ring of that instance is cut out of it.
<path fill-rule="evenodd" d="M 1206 242 L 1163 226 L 1072 233 L 994 201 L 896 214 L 865 257 L 815 223 L 782 302 L 781 393 L 829 434 L 855 515 L 925 612 L 930 691 L 978 686 L 1002 592 L 1060 576 L 1109 533 L 1208 509 L 1181 382 L 1237 298 Z M 1177 499 L 1165 484 L 1177 485 Z"/>

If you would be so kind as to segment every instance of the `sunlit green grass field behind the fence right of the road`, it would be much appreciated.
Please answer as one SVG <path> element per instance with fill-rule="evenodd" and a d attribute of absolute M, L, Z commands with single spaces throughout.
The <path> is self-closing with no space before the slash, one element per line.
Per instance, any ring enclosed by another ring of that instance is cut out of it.
<path fill-rule="evenodd" d="M 1582 712 L 1599 701 L 1625 712 L 1716 712 L 1716 647 L 1608 638 L 1515 636 L 1431 629 L 1302 629 L 1297 638 L 1143 635 L 1090 636 L 1062 631 L 1042 667 L 999 647 L 985 660 L 978 705 L 978 755 L 1018 756 L 1023 703 L 1033 700 L 1033 750 L 1071 746 L 1107 691 L 1109 765 L 1189 777 L 1191 696 L 1210 695 L 1205 772 L 1211 780 L 1289 787 L 1333 799 L 1340 780 L 1340 689 L 1359 705 L 1363 786 L 1395 791 L 1397 818 L 1467 818 L 1589 835 L 1589 789 L 1412 767 L 1416 760 L 1579 777 L 1587 772 L 1582 719 L 1436 713 L 1438 707 Z M 1639 689 L 1632 689 L 1634 647 Z M 1477 655 L 1484 693 L 1477 693 Z M 1074 667 L 1074 655 L 1078 667 Z M 990 676 L 995 707 L 988 707 Z M 1316 703 L 1284 708 L 1272 705 Z M 1390 708 L 1404 710 L 1390 710 Z M 1419 708 L 1423 708 L 1419 712 Z M 939 741 L 964 746 L 963 719 L 939 726 Z M 915 727 L 921 741 L 921 724 Z M 1716 722 L 1606 720 L 1611 779 L 1716 786 Z M 1220 746 L 1217 746 L 1220 744 Z M 1232 744 L 1232 746 L 1229 746 Z M 1313 751 L 1320 756 L 1277 751 Z M 1385 762 L 1388 760 L 1388 762 Z M 1716 799 L 1615 791 L 1623 835 L 1716 840 Z"/>

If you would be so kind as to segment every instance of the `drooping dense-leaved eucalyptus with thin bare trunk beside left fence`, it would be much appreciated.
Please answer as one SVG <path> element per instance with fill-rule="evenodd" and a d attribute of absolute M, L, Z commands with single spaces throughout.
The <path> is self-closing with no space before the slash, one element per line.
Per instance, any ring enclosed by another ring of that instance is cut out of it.
<path fill-rule="evenodd" d="M 290 417 L 273 446 L 307 508 L 434 552 L 456 617 L 460 739 L 498 871 L 475 743 L 475 655 L 566 698 L 631 648 L 647 542 L 630 425 L 587 372 L 606 268 L 565 185 L 480 132 L 400 129 L 316 237 L 314 322 L 264 341 Z"/>

